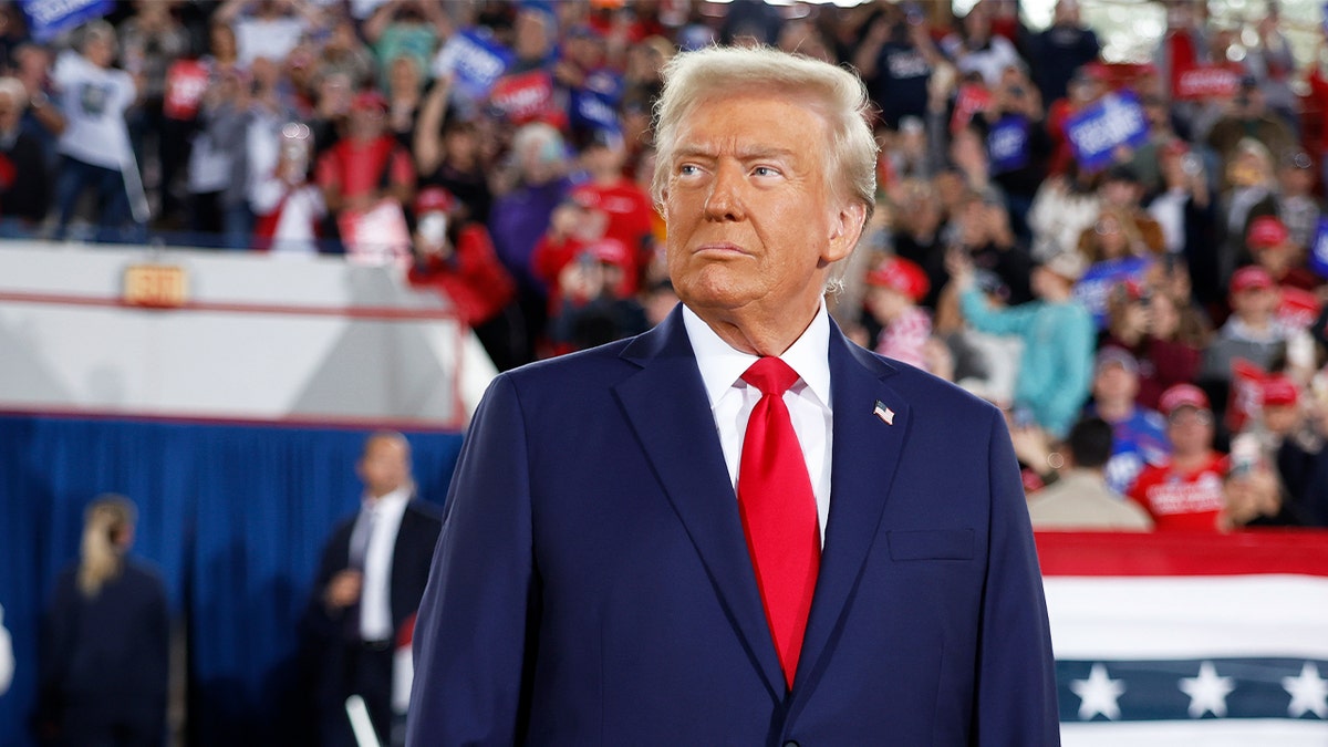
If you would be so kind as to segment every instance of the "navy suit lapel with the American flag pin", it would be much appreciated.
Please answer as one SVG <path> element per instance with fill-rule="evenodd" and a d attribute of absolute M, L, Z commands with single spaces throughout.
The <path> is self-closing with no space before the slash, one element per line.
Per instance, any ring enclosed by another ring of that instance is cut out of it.
<path fill-rule="evenodd" d="M 830 518 L 794 681 L 799 695 L 815 685 L 818 665 L 851 602 L 903 452 L 910 408 L 882 381 L 894 374 L 890 364 L 847 342 L 838 327 L 831 326 L 834 444 Z M 890 424 L 874 412 L 878 401 L 892 411 L 887 416 Z M 801 683 L 806 686 L 798 687 Z"/>

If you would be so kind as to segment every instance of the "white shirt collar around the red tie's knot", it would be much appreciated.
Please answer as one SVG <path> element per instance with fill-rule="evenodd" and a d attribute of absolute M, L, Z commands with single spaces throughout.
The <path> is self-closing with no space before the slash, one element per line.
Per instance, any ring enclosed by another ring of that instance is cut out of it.
<path fill-rule="evenodd" d="M 683 326 L 696 354 L 705 395 L 710 408 L 757 360 L 757 356 L 734 350 L 724 342 L 695 311 L 683 306 Z M 817 310 L 811 324 L 794 340 L 780 359 L 789 364 L 821 405 L 830 409 L 830 315 L 825 303 Z M 798 384 L 794 384 L 794 389 Z"/>

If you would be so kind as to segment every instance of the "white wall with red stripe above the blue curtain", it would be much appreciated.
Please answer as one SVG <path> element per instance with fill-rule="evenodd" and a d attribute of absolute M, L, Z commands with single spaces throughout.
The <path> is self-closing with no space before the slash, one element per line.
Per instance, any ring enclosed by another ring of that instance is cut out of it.
<path fill-rule="evenodd" d="M 189 300 L 121 303 L 125 268 Z M 0 409 L 459 427 L 494 375 L 433 291 L 340 258 L 0 242 Z"/>

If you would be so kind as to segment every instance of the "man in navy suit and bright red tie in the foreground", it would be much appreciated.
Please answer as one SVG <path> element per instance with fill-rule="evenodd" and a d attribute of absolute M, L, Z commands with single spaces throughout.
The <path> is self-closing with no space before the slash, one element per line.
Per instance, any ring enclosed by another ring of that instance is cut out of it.
<path fill-rule="evenodd" d="M 875 191 L 866 104 L 770 49 L 669 64 L 653 191 L 683 306 L 490 387 L 408 744 L 1058 743 L 1001 413 L 826 314 Z"/>

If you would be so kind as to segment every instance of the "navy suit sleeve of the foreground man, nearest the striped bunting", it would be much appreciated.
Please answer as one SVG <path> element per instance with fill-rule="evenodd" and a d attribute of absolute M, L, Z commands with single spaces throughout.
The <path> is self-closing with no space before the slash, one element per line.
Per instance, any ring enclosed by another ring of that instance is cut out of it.
<path fill-rule="evenodd" d="M 992 413 L 991 525 L 977 661 L 975 744 L 1060 744 L 1056 662 L 1015 449 Z"/>

